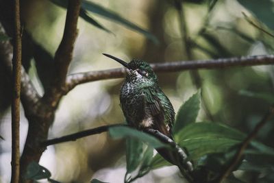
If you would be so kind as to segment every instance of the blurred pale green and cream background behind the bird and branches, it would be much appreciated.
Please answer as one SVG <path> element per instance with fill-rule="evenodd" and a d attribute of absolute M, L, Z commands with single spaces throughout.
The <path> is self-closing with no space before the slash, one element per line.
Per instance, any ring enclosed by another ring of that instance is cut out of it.
<path fill-rule="evenodd" d="M 153 63 L 272 54 L 274 50 L 274 38 L 248 22 L 253 21 L 266 31 L 273 32 L 274 5 L 270 0 L 260 3 L 255 0 L 92 2 L 149 30 L 159 42 L 157 44 L 115 21 L 88 12 L 112 33 L 79 19 L 79 35 L 69 73 L 121 67 L 101 53 L 110 53 L 128 61 L 138 58 Z M 181 14 L 178 3 L 182 3 L 184 10 Z M 22 1 L 22 14 L 24 29 L 53 56 L 62 38 L 66 11 L 48 0 L 26 0 Z M 183 24 L 187 35 L 182 31 L 182 18 L 185 19 Z M 191 57 L 185 45 L 191 50 Z M 28 73 L 32 82 L 42 94 L 38 73 L 50 71 L 34 60 L 25 63 L 25 66 L 29 67 Z M 226 123 L 248 133 L 269 109 L 271 100 L 267 96 L 273 93 L 273 66 L 198 72 L 203 96 L 203 109 L 199 113 L 198 121 Z M 197 91 L 190 71 L 160 73 L 158 77 L 160 86 L 171 99 L 175 111 Z M 119 89 L 122 82 L 123 79 L 91 82 L 71 90 L 60 103 L 49 138 L 123 122 L 123 113 L 119 107 Z M 1 87 L 5 88 L 5 85 Z M 256 97 L 258 93 L 266 96 L 266 99 Z M 0 96 L 0 134 L 5 138 L 5 141 L 0 141 L 0 182 L 10 181 L 10 107 L 5 98 L 5 95 Z M 21 114 L 22 150 L 27 134 L 27 121 L 23 109 Z M 267 123 L 260 131 L 258 140 L 274 147 L 273 138 L 273 123 Z M 122 182 L 125 173 L 124 151 L 123 141 L 113 141 L 107 134 L 99 134 L 48 147 L 40 164 L 47 167 L 53 175 L 52 178 L 60 182 L 88 182 L 92 177 L 105 182 Z M 247 179 L 252 176 L 242 174 Z M 179 176 L 176 167 L 165 167 L 152 171 L 136 182 L 176 182 Z"/>

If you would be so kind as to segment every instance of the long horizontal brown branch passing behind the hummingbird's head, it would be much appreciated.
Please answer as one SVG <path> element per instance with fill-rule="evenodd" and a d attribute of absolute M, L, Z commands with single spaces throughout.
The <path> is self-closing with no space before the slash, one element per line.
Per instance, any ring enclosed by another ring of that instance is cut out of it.
<path fill-rule="evenodd" d="M 274 64 L 273 55 L 265 56 L 243 56 L 236 58 L 219 58 L 216 60 L 196 60 L 196 61 L 179 61 L 166 62 L 160 64 L 151 64 L 155 72 L 176 72 L 193 69 L 224 69 L 232 66 L 258 66 Z M 123 77 L 125 71 L 121 69 L 110 69 L 105 71 L 90 71 L 86 73 L 75 73 L 69 75 L 66 80 L 65 92 L 86 82 L 95 82 L 98 80 L 114 79 Z"/>

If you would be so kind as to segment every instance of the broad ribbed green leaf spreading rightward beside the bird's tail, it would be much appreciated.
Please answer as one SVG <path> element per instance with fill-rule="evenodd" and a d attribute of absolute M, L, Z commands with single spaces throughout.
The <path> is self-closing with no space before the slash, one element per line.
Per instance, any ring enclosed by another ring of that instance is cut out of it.
<path fill-rule="evenodd" d="M 241 143 L 245 134 L 221 123 L 190 123 L 178 134 L 179 145 L 185 147 L 192 160 L 206 154 L 222 153 Z"/>

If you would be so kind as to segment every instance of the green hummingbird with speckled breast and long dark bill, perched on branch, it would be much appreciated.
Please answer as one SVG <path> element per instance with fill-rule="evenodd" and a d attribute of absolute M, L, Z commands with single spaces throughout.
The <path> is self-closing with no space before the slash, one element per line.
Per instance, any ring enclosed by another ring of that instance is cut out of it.
<path fill-rule="evenodd" d="M 152 128 L 173 139 L 172 127 L 175 112 L 171 101 L 158 85 L 158 77 L 151 66 L 142 60 L 127 63 L 103 53 L 125 67 L 127 73 L 120 90 L 120 103 L 129 125 L 138 130 Z M 156 149 L 163 158 L 175 164 L 168 149 Z"/>

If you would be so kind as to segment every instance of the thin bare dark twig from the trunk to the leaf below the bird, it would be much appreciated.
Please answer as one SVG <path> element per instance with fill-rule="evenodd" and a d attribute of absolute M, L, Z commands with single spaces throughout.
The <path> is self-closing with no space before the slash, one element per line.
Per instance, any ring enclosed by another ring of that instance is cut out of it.
<path fill-rule="evenodd" d="M 78 138 L 83 138 L 85 136 L 90 136 L 94 134 L 101 134 L 102 132 L 107 132 L 110 127 L 116 127 L 116 126 L 125 126 L 125 124 L 114 124 L 114 125 L 103 125 L 100 127 L 95 127 L 90 130 L 84 130 L 82 132 L 77 132 L 75 134 L 69 134 L 66 136 L 62 136 L 59 138 L 53 138 L 47 141 L 43 141 L 41 143 L 42 146 L 49 146 L 49 145 L 55 145 L 58 143 L 64 143 L 68 141 L 76 141 Z"/>

